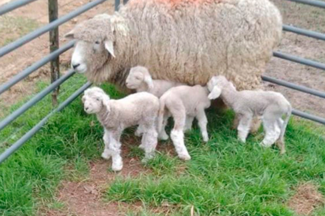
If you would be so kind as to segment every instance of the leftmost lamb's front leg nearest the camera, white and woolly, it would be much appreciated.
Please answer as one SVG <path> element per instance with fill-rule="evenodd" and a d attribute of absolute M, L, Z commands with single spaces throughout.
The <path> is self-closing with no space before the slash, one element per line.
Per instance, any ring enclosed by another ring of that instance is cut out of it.
<path fill-rule="evenodd" d="M 122 131 L 112 131 L 110 133 L 110 144 L 109 144 L 109 152 L 112 156 L 112 170 L 120 171 L 123 168 L 123 162 L 121 157 L 121 137 Z"/>

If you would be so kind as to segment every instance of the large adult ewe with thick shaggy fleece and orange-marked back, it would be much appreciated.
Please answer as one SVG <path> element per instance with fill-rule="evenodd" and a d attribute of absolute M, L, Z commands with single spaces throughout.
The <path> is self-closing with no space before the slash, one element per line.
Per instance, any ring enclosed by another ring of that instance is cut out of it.
<path fill-rule="evenodd" d="M 130 68 L 142 65 L 153 79 L 205 85 L 224 75 L 243 90 L 260 87 L 281 30 L 268 0 L 130 0 L 66 37 L 77 39 L 72 67 L 94 83 L 125 87 Z"/>

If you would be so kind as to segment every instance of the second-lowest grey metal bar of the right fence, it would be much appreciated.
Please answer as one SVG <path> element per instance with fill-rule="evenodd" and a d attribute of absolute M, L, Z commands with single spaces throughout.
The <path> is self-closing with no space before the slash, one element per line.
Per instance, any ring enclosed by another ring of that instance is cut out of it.
<path fill-rule="evenodd" d="M 282 86 L 285 86 L 285 87 L 288 87 L 288 88 L 292 88 L 292 89 L 295 89 L 295 90 L 298 90 L 298 91 L 301 91 L 301 92 L 305 92 L 305 93 L 308 93 L 308 94 L 311 94 L 311 95 L 315 95 L 315 96 L 318 96 L 318 97 L 325 98 L 325 92 L 321 92 L 321 91 L 318 91 L 318 90 L 315 90 L 315 89 L 312 89 L 312 88 L 307 88 L 307 87 L 302 86 L 302 85 L 296 85 L 294 83 L 290 83 L 290 82 L 287 82 L 287 81 L 284 81 L 284 80 L 279 80 L 279 79 L 269 77 L 269 76 L 262 75 L 261 77 L 262 77 L 262 80 L 270 82 L 270 83 L 275 83 L 275 84 L 282 85 Z"/>

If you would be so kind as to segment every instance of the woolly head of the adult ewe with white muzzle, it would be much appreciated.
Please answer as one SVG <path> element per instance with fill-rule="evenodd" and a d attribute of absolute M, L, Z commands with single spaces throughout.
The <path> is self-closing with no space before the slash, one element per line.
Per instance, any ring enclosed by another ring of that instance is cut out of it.
<path fill-rule="evenodd" d="M 76 39 L 71 66 L 77 73 L 96 72 L 115 58 L 111 17 L 100 14 L 76 25 L 65 37 Z"/>

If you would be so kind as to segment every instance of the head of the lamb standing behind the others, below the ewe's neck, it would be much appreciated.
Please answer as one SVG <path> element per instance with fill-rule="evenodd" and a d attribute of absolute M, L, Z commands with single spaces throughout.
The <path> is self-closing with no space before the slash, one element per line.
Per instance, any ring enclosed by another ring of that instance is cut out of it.
<path fill-rule="evenodd" d="M 143 83 L 148 85 L 149 90 L 153 88 L 153 82 L 149 70 L 143 66 L 131 68 L 129 75 L 125 80 L 126 87 L 130 89 L 137 89 Z"/>

